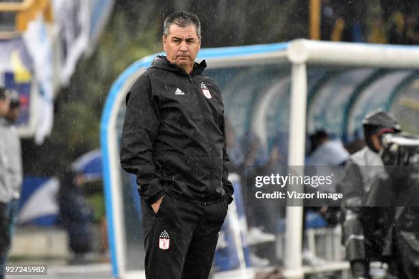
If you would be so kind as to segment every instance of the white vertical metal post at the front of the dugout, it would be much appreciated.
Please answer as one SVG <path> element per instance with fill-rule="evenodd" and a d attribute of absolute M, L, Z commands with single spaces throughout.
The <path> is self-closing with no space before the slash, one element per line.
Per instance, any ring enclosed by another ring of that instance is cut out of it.
<path fill-rule="evenodd" d="M 305 118 L 307 107 L 307 72 L 305 63 L 292 64 L 292 85 L 290 105 L 290 144 L 288 164 L 304 165 L 305 159 Z M 302 168 L 297 168 L 302 169 Z M 302 192 L 303 185 L 295 189 Z M 302 231 L 303 207 L 288 207 L 285 227 L 285 269 L 295 274 L 293 278 L 303 279 L 302 269 Z"/>

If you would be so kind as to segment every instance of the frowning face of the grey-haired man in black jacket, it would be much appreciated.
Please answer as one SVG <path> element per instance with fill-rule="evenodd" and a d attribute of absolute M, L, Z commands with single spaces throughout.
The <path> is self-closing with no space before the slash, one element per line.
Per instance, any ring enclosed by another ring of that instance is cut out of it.
<path fill-rule="evenodd" d="M 163 48 L 170 63 L 190 74 L 196 55 L 201 49 L 201 40 L 196 34 L 195 25 L 190 24 L 186 27 L 170 25 L 168 36 L 163 36 Z"/>

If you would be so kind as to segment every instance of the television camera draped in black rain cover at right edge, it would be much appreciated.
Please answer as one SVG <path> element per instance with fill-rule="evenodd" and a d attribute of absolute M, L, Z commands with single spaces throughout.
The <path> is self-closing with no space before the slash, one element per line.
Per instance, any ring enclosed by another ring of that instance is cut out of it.
<path fill-rule="evenodd" d="M 381 159 L 385 174 L 363 194 L 361 220 L 379 228 L 379 261 L 388 264 L 388 279 L 416 279 L 419 274 L 419 135 L 383 135 Z M 374 215 L 370 214 L 371 209 Z M 376 232 L 374 230 L 374 232 Z M 366 239 L 377 238 L 377 235 Z M 372 241 L 371 241 L 372 242 Z"/>

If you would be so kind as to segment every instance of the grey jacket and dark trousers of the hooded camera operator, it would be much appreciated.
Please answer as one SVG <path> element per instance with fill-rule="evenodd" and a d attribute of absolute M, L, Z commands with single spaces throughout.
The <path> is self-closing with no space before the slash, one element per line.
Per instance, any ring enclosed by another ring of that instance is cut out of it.
<path fill-rule="evenodd" d="M 377 152 L 367 146 L 351 155 L 339 192 L 342 203 L 342 244 L 346 260 L 351 262 L 353 274 L 367 276 L 368 265 L 377 261 L 383 248 L 383 237 L 388 220 L 383 220 L 381 207 L 361 207 L 364 194 L 381 174 L 383 161 Z"/>

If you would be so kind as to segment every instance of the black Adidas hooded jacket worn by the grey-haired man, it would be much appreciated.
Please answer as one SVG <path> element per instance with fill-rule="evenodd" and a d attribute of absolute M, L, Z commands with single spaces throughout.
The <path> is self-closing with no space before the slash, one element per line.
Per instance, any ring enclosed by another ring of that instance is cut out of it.
<path fill-rule="evenodd" d="M 232 200 L 223 101 L 205 67 L 195 63 L 188 75 L 157 56 L 127 94 L 120 163 L 137 175 L 148 204 L 164 191 L 192 202 Z M 206 88 L 211 98 L 202 98 Z"/>

